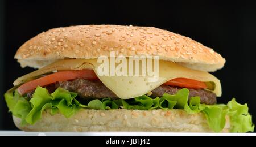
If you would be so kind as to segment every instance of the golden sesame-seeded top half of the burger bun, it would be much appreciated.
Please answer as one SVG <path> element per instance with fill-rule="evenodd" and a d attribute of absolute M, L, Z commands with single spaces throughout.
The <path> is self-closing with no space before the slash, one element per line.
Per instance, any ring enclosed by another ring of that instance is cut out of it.
<path fill-rule="evenodd" d="M 100 55 L 158 55 L 159 59 L 201 71 L 216 71 L 225 59 L 189 37 L 154 27 L 79 25 L 54 28 L 24 43 L 15 58 L 22 67 L 41 68 L 56 60 Z"/>

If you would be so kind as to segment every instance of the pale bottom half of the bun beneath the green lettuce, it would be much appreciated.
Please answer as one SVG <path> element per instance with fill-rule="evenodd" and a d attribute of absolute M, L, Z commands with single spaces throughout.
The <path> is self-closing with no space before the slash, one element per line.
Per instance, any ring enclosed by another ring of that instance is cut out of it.
<path fill-rule="evenodd" d="M 23 131 L 212 132 L 203 113 L 189 115 L 184 110 L 81 109 L 71 118 L 43 113 L 42 119 L 32 126 L 20 126 L 20 118 L 13 119 Z M 229 132 L 230 124 L 226 120 L 223 132 Z"/>

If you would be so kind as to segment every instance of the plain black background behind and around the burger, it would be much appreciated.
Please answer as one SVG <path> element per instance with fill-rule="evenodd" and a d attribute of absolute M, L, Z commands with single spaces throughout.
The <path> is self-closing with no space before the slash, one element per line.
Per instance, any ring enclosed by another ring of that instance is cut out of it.
<path fill-rule="evenodd" d="M 16 50 L 36 34 L 81 24 L 142 25 L 183 34 L 225 59 L 221 80 L 226 103 L 248 103 L 256 122 L 256 2 L 216 1 L 0 1 L 0 129 L 16 129 L 3 93 L 32 68 L 20 68 Z"/>

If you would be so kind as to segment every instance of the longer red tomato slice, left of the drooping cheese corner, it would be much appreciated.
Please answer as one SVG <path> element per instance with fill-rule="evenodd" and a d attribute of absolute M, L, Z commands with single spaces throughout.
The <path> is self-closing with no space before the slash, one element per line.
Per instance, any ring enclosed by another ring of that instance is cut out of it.
<path fill-rule="evenodd" d="M 18 92 L 19 94 L 23 95 L 31 90 L 34 90 L 38 86 L 44 87 L 57 81 L 66 81 L 76 78 L 84 78 L 90 80 L 98 79 L 97 75 L 94 73 L 93 70 L 59 71 L 44 77 L 40 77 L 39 79 L 24 83 L 18 88 Z"/>

